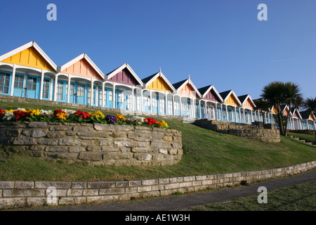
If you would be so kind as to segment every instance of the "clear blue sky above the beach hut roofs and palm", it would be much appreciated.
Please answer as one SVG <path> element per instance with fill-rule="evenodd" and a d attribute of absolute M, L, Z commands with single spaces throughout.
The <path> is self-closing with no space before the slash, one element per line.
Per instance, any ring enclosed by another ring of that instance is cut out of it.
<path fill-rule="evenodd" d="M 316 94 L 315 0 L 15 0 L 0 15 L 0 55 L 36 41 L 59 66 L 87 53 L 105 74 L 129 63 L 140 79 L 162 68 L 172 84 L 190 74 L 197 88 L 254 99 L 273 81 Z"/>

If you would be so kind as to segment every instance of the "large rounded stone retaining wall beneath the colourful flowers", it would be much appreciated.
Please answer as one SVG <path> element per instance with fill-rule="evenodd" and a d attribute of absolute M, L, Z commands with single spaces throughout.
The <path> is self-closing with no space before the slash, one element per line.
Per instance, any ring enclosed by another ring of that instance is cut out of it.
<path fill-rule="evenodd" d="M 173 165 L 183 155 L 180 131 L 114 124 L 1 122 L 0 143 L 8 151 L 93 165 Z"/>

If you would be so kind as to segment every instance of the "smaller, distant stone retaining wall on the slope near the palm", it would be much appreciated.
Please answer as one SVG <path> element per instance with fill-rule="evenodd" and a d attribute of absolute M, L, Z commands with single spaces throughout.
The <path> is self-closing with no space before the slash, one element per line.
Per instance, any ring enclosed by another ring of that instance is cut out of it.
<path fill-rule="evenodd" d="M 223 122 L 216 120 L 196 120 L 193 124 L 198 127 L 217 131 L 222 134 L 244 136 L 249 139 L 258 139 L 268 142 L 280 142 L 278 129 L 263 129 L 254 124 L 240 124 L 235 122 Z"/>

